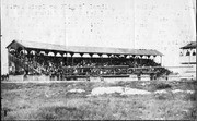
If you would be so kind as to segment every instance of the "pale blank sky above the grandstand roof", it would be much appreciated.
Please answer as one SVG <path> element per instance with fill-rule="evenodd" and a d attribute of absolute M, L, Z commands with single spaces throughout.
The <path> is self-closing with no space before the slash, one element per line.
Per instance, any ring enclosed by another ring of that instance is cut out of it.
<path fill-rule="evenodd" d="M 73 46 L 157 49 L 179 64 L 196 40 L 196 0 L 1 0 L 2 73 L 13 39 Z"/>

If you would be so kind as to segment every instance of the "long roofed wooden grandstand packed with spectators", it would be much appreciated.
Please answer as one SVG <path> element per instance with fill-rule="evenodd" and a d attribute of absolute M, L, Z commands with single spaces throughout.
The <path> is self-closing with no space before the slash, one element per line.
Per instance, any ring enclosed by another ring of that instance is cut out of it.
<path fill-rule="evenodd" d="M 163 56 L 152 49 L 77 47 L 22 40 L 13 40 L 7 48 L 10 75 L 47 75 L 50 80 L 63 81 L 130 75 L 140 80 L 143 74 L 155 80 L 170 74 L 161 63 L 151 59 Z"/>

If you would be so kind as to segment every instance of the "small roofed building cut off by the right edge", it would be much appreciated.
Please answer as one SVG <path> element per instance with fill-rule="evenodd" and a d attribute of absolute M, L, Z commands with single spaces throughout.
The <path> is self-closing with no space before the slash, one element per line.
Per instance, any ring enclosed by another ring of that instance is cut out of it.
<path fill-rule="evenodd" d="M 188 66 L 181 69 L 182 76 L 192 76 L 196 78 L 196 41 L 192 41 L 184 47 L 181 47 L 179 59 L 181 64 Z"/>

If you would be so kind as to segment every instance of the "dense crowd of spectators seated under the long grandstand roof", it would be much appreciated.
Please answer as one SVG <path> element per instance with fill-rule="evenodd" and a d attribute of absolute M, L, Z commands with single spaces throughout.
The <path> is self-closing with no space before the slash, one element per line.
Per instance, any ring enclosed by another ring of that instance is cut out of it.
<path fill-rule="evenodd" d="M 58 77 L 70 75 L 123 75 L 135 73 L 157 73 L 158 75 L 169 74 L 170 71 L 160 66 L 152 59 L 141 58 L 81 58 L 81 57 L 51 57 L 39 55 L 23 55 L 15 51 L 10 52 L 18 59 L 18 63 L 24 64 L 25 74 L 46 74 Z M 20 60 L 20 62 L 19 62 Z M 20 64 L 19 64 L 20 65 Z M 132 69 L 150 66 L 150 69 Z M 130 68 L 130 69 L 129 69 Z"/>

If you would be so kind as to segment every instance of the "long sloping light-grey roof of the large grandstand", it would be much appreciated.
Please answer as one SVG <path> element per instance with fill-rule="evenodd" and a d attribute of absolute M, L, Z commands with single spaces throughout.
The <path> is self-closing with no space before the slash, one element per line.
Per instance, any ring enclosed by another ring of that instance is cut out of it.
<path fill-rule="evenodd" d="M 73 53 L 111 53 L 111 55 L 136 55 L 136 56 L 163 56 L 152 49 L 128 49 L 128 48 L 107 48 L 107 47 L 85 47 L 85 46 L 63 46 L 36 41 L 13 40 L 9 47 L 24 47 L 33 50 L 63 51 Z"/>

